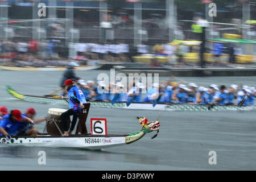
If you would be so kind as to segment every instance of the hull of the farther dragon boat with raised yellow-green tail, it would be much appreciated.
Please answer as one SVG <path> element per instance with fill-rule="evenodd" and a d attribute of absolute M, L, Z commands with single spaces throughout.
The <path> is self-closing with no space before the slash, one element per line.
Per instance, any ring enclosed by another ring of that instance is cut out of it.
<path fill-rule="evenodd" d="M 67 105 L 67 98 L 61 96 L 30 96 L 16 92 L 11 86 L 6 86 L 6 90 L 11 96 L 27 102 L 37 102 L 51 105 Z M 166 111 L 251 111 L 256 110 L 256 105 L 241 106 L 236 105 L 194 105 L 194 104 L 167 104 L 158 103 L 153 106 L 151 103 L 131 103 L 129 106 L 126 102 L 88 101 L 92 107 L 107 107 L 119 109 L 143 109 L 143 110 L 166 110 Z"/>

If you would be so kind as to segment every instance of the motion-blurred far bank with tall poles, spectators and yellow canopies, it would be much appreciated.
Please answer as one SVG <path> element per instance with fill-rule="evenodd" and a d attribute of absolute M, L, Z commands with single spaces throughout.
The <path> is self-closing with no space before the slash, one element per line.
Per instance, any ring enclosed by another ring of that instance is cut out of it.
<path fill-rule="evenodd" d="M 71 59 L 254 66 L 255 40 L 256 3 L 249 0 L 0 1 L 1 63 L 15 67 Z"/>

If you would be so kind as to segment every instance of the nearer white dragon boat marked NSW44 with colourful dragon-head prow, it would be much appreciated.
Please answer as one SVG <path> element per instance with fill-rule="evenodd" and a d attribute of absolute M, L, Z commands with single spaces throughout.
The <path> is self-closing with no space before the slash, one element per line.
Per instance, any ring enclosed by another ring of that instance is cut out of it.
<path fill-rule="evenodd" d="M 159 131 L 159 121 L 143 122 L 145 118 L 139 118 L 139 122 L 143 126 L 142 130 L 137 133 L 130 134 L 93 134 L 87 133 L 86 118 L 89 112 L 90 104 L 84 104 L 79 115 L 79 123 L 77 125 L 76 134 L 63 136 L 63 129 L 61 127 L 60 114 L 65 110 L 50 108 L 48 111 L 46 129 L 47 133 L 38 134 L 36 137 L 14 136 L 5 137 L 0 136 L 0 146 L 40 146 L 40 147 L 75 147 L 86 148 L 90 150 L 99 150 L 102 148 L 109 148 L 133 143 L 146 133 Z M 68 122 L 69 123 L 69 122 Z M 92 125 L 92 122 L 91 122 Z M 68 125 L 69 126 L 69 125 Z M 93 126 L 91 126 L 92 129 Z M 97 126 L 97 128 L 99 128 Z M 102 130 L 103 131 L 103 130 Z M 157 135 L 157 134 L 156 134 Z M 154 137 L 156 137 L 156 135 Z M 152 137 L 153 138 L 153 137 Z"/>

